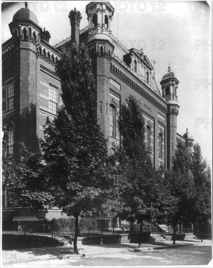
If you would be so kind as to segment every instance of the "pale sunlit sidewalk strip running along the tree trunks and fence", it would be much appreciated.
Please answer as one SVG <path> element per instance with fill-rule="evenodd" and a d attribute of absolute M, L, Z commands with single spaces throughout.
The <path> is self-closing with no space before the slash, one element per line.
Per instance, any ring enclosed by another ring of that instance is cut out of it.
<path fill-rule="evenodd" d="M 81 242 L 81 241 L 79 241 Z M 138 249 L 138 244 L 109 244 L 109 245 L 95 245 L 87 246 L 78 243 L 79 254 L 73 253 L 73 247 L 68 245 L 67 247 L 52 247 L 52 248 L 34 248 L 34 249 L 18 249 L 18 250 L 3 250 L 2 251 L 2 264 L 3 266 L 17 266 L 22 263 L 35 263 L 37 261 L 54 261 L 54 260 L 71 260 L 85 256 L 106 256 L 106 254 L 114 253 L 134 253 L 156 249 L 175 248 L 180 246 L 189 245 L 211 245 L 212 241 L 207 240 L 201 243 L 199 240 L 186 240 L 176 241 L 176 245 L 173 245 L 173 241 L 155 242 L 154 244 L 142 244 Z"/>

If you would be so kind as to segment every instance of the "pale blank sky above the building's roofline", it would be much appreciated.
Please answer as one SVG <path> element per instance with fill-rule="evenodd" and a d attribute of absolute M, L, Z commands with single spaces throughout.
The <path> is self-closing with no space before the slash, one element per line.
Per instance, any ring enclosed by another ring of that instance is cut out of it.
<path fill-rule="evenodd" d="M 1 1 L 2 2 L 2 1 Z M 81 12 L 80 29 L 88 25 L 85 13 L 89 1 L 29 1 L 39 26 L 51 34 L 54 44 L 71 35 L 69 13 Z M 186 128 L 212 165 L 212 7 L 201 1 L 110 1 L 115 12 L 112 34 L 130 49 L 143 48 L 149 60 L 156 60 L 156 80 L 171 70 L 179 80 L 177 132 Z M 8 23 L 24 2 L 8 2 L 2 12 L 1 40 L 11 37 Z M 118 29 L 118 31 L 117 31 Z M 211 45 L 210 45 L 211 44 Z M 145 45 L 145 47 L 144 47 Z"/>

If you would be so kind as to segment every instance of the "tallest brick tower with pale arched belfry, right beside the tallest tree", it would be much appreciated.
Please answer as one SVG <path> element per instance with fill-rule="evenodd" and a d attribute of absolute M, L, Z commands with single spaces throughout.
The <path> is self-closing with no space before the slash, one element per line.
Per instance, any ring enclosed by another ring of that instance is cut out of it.
<path fill-rule="evenodd" d="M 108 137 L 110 61 L 114 50 L 110 24 L 114 8 L 109 2 L 90 2 L 86 13 L 89 21 L 87 45 L 97 86 L 97 119 L 105 137 Z"/>

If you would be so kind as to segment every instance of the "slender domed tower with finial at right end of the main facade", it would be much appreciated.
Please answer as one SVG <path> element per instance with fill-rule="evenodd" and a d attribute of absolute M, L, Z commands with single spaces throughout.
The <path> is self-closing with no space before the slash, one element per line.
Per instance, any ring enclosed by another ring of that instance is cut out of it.
<path fill-rule="evenodd" d="M 165 97 L 167 102 L 167 169 L 172 168 L 172 156 L 175 155 L 177 143 L 177 115 L 179 109 L 177 101 L 178 84 L 179 81 L 171 71 L 169 65 L 168 72 L 163 76 L 160 82 L 160 85 L 162 86 L 162 96 Z"/>

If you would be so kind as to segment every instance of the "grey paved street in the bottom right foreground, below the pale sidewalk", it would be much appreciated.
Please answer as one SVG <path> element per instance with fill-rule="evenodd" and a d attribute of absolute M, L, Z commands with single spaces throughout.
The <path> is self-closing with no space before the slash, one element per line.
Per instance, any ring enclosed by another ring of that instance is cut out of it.
<path fill-rule="evenodd" d="M 211 259 L 211 246 L 186 246 L 175 249 L 142 251 L 140 253 L 113 254 L 106 257 L 91 256 L 72 265 L 131 267 L 161 265 L 207 265 Z"/>

